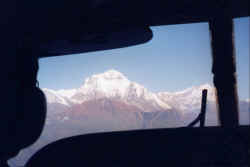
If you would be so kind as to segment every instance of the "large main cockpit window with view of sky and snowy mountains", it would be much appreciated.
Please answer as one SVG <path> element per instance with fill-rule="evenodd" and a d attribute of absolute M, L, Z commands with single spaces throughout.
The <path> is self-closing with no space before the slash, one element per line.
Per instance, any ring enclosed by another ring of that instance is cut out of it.
<path fill-rule="evenodd" d="M 217 126 L 208 23 L 151 29 L 154 37 L 146 44 L 40 59 L 38 80 L 47 98 L 46 125 L 40 139 L 10 164 L 24 165 L 41 147 L 74 135 L 185 127 L 200 112 L 203 89 L 208 90 L 205 126 Z M 236 26 L 236 40 L 237 36 Z M 237 41 L 241 46 L 242 41 Z M 249 41 L 244 45 L 249 46 Z M 239 62 L 246 65 L 246 53 L 238 54 Z M 244 84 L 249 82 L 245 83 L 247 74 L 238 71 L 244 99 Z"/>

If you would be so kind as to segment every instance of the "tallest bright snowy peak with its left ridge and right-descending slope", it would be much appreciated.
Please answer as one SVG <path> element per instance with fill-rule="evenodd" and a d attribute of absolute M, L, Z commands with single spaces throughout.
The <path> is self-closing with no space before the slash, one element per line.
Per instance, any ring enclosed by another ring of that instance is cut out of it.
<path fill-rule="evenodd" d="M 108 70 L 87 78 L 78 89 L 49 90 L 48 103 L 61 103 L 64 105 L 81 104 L 89 100 L 102 98 L 121 100 L 133 104 L 145 112 L 156 110 L 169 110 L 172 107 L 163 102 L 157 94 L 150 92 L 142 85 L 129 81 L 122 73 Z M 54 93 L 52 96 L 51 93 Z"/>

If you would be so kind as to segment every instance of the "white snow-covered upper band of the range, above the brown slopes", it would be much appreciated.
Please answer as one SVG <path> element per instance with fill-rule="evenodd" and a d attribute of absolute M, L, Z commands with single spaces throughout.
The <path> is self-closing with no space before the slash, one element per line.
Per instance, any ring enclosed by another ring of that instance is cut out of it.
<path fill-rule="evenodd" d="M 48 103 L 61 103 L 67 106 L 81 104 L 89 100 L 109 98 L 132 104 L 145 112 L 170 110 L 182 111 L 200 108 L 201 92 L 208 89 L 208 101 L 215 100 L 215 91 L 209 84 L 194 86 L 179 92 L 153 93 L 142 85 L 129 81 L 116 70 L 108 70 L 85 79 L 78 89 L 50 90 L 44 88 Z M 180 104 L 181 103 L 181 104 Z"/>

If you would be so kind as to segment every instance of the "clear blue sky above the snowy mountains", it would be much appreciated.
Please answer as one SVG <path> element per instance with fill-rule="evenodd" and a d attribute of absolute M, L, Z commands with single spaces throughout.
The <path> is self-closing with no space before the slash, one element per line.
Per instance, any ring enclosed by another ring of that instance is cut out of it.
<path fill-rule="evenodd" d="M 239 96 L 249 98 L 249 17 L 235 19 Z M 153 39 L 123 49 L 43 58 L 40 87 L 71 89 L 85 78 L 115 69 L 153 92 L 212 84 L 208 23 L 151 27 Z"/>

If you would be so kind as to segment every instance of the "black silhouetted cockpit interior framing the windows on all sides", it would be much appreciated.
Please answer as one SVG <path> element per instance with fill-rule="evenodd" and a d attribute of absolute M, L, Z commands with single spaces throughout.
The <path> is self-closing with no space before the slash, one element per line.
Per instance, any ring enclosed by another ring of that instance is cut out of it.
<path fill-rule="evenodd" d="M 18 68 L 25 68 L 44 57 L 143 44 L 153 38 L 150 26 L 198 22 L 209 22 L 219 127 L 74 136 L 45 146 L 31 157 L 26 166 L 249 166 L 250 127 L 239 125 L 233 29 L 234 18 L 249 16 L 248 6 L 248 0 L 54 0 L 6 3 L 5 19 L 1 21 L 1 55 L 5 60 L 1 70 L 4 71 L 2 84 L 6 88 L 3 94 L 8 98 L 2 101 L 4 107 L 0 117 L 3 132 L 0 166 L 7 166 L 6 161 L 16 155 L 8 150 L 15 148 L 18 141 L 18 138 L 11 138 L 15 135 L 9 127 L 15 129 L 20 123 L 15 120 L 21 118 L 16 116 L 18 106 L 10 102 L 13 98 L 11 95 L 15 95 L 14 85 L 18 82 L 15 77 L 22 75 L 22 70 Z M 26 54 L 20 54 L 17 48 L 26 48 Z M 24 63 L 23 66 L 17 66 L 18 60 Z M 24 136 L 31 135 L 29 130 L 22 133 Z"/>

